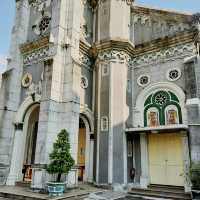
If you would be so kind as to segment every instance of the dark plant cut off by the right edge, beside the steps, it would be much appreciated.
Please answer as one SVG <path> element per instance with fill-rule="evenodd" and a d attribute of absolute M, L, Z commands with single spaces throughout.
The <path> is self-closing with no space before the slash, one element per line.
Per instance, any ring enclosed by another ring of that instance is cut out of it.
<path fill-rule="evenodd" d="M 192 163 L 190 167 L 193 196 L 200 199 L 200 162 Z"/>

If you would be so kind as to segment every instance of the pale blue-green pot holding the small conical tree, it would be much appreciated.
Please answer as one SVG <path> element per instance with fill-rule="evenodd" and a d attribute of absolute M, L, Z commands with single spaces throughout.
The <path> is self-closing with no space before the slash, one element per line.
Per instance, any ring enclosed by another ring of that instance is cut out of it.
<path fill-rule="evenodd" d="M 47 188 L 50 196 L 62 196 L 65 191 L 65 183 L 47 182 Z"/>

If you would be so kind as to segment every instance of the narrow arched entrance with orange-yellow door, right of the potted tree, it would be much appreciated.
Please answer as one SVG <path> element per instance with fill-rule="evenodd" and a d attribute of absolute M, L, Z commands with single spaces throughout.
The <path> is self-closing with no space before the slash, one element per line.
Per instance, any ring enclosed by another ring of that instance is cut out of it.
<path fill-rule="evenodd" d="M 93 156 L 94 138 L 89 126 L 89 122 L 83 115 L 79 119 L 78 135 L 78 179 L 79 181 L 93 181 Z"/>

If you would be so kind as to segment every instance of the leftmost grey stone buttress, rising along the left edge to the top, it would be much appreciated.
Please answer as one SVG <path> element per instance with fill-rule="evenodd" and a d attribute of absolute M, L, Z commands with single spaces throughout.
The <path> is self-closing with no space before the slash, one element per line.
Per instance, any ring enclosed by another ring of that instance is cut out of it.
<path fill-rule="evenodd" d="M 13 120 L 20 104 L 23 72 L 19 46 L 27 39 L 29 12 L 28 0 L 16 1 L 10 55 L 0 92 L 0 184 L 6 182 L 13 152 L 13 139 L 17 134 Z"/>

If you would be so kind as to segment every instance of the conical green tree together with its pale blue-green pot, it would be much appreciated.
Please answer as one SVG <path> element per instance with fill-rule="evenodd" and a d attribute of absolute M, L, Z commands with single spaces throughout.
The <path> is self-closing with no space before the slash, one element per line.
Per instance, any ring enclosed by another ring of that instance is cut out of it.
<path fill-rule="evenodd" d="M 70 154 L 69 134 L 65 129 L 58 134 L 49 157 L 47 172 L 56 175 L 56 182 L 47 183 L 48 192 L 51 196 L 61 196 L 65 190 L 65 182 L 61 182 L 61 176 L 68 174 L 75 163 Z"/>

